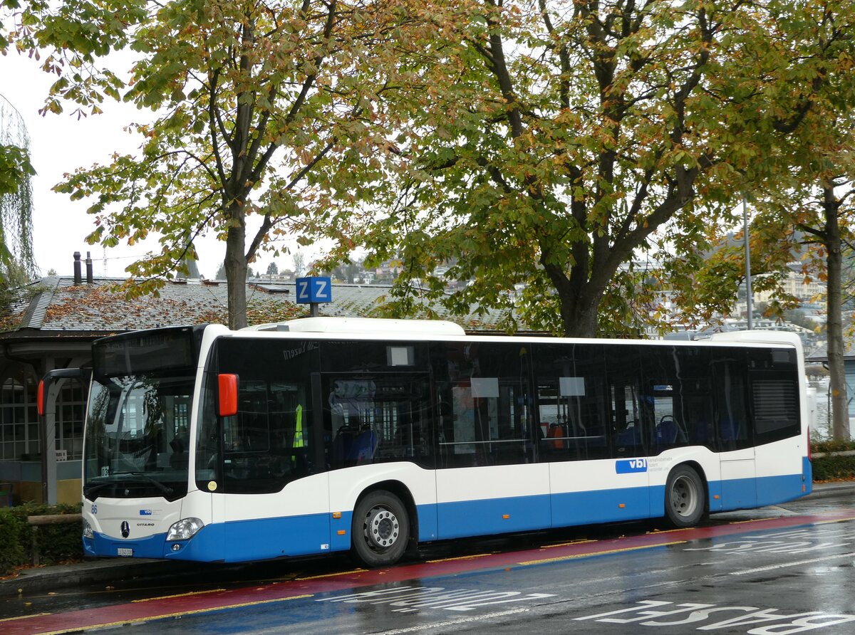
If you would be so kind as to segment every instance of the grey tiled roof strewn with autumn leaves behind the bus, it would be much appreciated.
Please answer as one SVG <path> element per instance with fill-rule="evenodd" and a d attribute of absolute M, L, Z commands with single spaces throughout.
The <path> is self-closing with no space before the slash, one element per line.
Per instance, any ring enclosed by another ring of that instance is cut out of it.
<path fill-rule="evenodd" d="M 127 297 L 125 279 L 95 278 L 75 285 L 70 276 L 49 276 L 15 291 L 0 315 L 0 338 L 21 336 L 74 337 L 133 331 L 157 326 L 228 323 L 227 284 L 217 280 L 167 282 L 157 293 Z M 391 287 L 333 285 L 333 302 L 321 304 L 325 316 L 379 315 Z M 292 320 L 310 315 L 308 304 L 295 302 L 293 282 L 247 283 L 247 321 L 250 325 Z M 498 314 L 465 320 L 436 309 L 439 317 L 467 328 L 490 328 Z"/>

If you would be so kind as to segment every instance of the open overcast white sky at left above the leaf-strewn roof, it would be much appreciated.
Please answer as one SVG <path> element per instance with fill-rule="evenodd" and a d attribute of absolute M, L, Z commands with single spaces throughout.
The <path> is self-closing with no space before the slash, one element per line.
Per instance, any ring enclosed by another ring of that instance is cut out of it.
<path fill-rule="evenodd" d="M 103 103 L 103 115 L 80 120 L 68 113 L 43 117 L 38 115 L 38 109 L 44 103 L 51 81 L 50 76 L 38 68 L 38 62 L 27 56 L 14 50 L 7 56 L 0 56 L 0 95 L 15 106 L 27 125 L 32 164 L 38 172 L 32 179 L 35 206 L 32 242 L 36 263 L 42 274 L 50 269 L 70 274 L 74 251 L 80 251 L 83 259 L 86 251 L 90 251 L 97 277 L 105 273 L 124 276 L 127 265 L 148 250 L 156 250 L 157 244 L 151 241 L 150 245 L 121 245 L 107 250 L 106 254 L 100 246 L 86 244 L 85 237 L 95 228 L 94 216 L 85 211 L 89 203 L 85 199 L 72 202 L 68 195 L 58 194 L 51 188 L 62 181 L 63 173 L 93 163 L 107 163 L 116 151 L 131 153 L 136 150 L 139 141 L 123 128 L 132 121 L 140 121 L 145 114 L 128 104 L 109 100 Z M 67 107 L 67 110 L 73 108 Z M 225 243 L 207 238 L 198 242 L 197 250 L 199 272 L 213 278 L 225 256 Z M 307 263 L 313 257 L 309 252 L 305 252 L 305 256 Z M 274 261 L 280 269 L 293 267 L 290 255 L 275 259 L 263 256 L 251 267 L 263 273 Z"/>

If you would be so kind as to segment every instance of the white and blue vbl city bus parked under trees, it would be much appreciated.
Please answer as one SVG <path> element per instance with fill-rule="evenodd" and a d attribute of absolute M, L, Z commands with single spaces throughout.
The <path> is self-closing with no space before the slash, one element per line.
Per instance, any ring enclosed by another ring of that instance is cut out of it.
<path fill-rule="evenodd" d="M 431 541 L 693 526 L 811 491 L 804 358 L 783 333 L 524 338 L 307 318 L 92 350 L 91 556 L 352 550 L 378 567 Z"/>

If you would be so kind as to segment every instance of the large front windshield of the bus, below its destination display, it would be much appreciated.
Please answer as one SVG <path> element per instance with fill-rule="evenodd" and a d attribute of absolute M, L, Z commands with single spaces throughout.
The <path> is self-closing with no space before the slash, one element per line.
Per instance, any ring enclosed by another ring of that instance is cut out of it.
<path fill-rule="evenodd" d="M 186 495 L 192 391 L 193 378 L 176 373 L 93 379 L 85 497 Z"/>

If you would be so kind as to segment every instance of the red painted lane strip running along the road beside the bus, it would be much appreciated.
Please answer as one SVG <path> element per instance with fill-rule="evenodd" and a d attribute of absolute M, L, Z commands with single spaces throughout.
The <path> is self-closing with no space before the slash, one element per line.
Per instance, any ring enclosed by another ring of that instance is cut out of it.
<path fill-rule="evenodd" d="M 403 582 L 410 579 L 427 579 L 490 568 L 532 566 L 569 558 L 604 556 L 628 550 L 651 549 L 669 544 L 686 543 L 691 540 L 721 538 L 781 527 L 810 526 L 846 520 L 855 520 L 855 509 L 806 516 L 748 520 L 720 526 L 652 532 L 641 536 L 610 538 L 608 540 L 545 545 L 531 550 L 463 556 L 433 562 L 418 562 L 388 569 L 371 571 L 360 569 L 345 573 L 332 573 L 229 591 L 152 598 L 140 602 L 98 607 L 97 609 L 37 614 L 2 620 L 0 621 L 2 624 L 0 630 L 3 631 L 4 635 L 80 631 L 95 626 L 161 620 L 180 615 L 286 602 L 312 597 L 319 593 L 351 591 L 361 586 Z"/>

